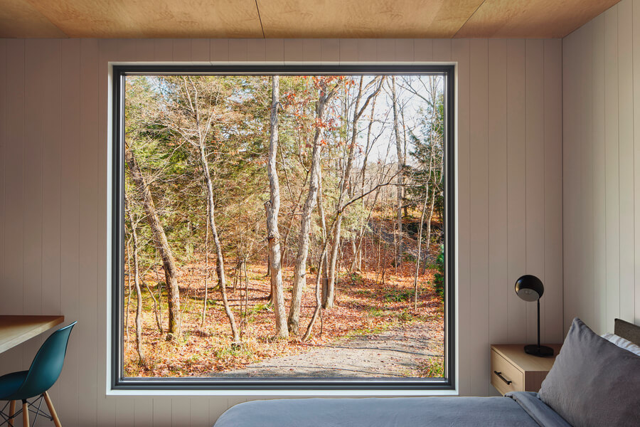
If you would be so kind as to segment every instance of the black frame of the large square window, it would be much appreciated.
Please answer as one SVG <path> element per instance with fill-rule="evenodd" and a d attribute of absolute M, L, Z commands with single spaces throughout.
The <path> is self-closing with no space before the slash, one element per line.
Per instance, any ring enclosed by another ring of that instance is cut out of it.
<path fill-rule="evenodd" d="M 112 390 L 454 390 L 455 342 L 455 202 L 454 65 L 113 65 L 112 74 L 112 307 L 110 386 Z M 444 370 L 442 379 L 220 379 L 124 376 L 124 78 L 127 75 L 444 75 Z"/>

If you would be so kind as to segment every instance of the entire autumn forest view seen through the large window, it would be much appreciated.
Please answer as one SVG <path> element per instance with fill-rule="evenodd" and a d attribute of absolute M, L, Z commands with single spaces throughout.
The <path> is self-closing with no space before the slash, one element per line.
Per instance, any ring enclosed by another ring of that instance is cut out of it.
<path fill-rule="evenodd" d="M 441 74 L 127 75 L 124 376 L 443 376 L 445 122 Z"/>

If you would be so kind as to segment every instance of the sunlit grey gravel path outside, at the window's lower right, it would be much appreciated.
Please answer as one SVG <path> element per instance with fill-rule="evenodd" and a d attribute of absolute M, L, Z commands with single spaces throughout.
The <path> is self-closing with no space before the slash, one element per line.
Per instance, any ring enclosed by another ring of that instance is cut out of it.
<path fill-rule="evenodd" d="M 442 356 L 442 331 L 428 327 L 423 322 L 400 325 L 380 334 L 341 339 L 303 354 L 268 359 L 215 376 L 415 376 L 421 359 Z"/>

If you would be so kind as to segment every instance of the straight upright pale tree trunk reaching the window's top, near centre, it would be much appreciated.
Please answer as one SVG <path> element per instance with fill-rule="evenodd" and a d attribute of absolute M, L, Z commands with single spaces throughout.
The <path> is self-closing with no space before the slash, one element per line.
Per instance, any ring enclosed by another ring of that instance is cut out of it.
<path fill-rule="evenodd" d="M 269 262 L 271 274 L 271 292 L 273 294 L 273 308 L 275 313 L 276 336 L 289 337 L 287 327 L 287 313 L 284 310 L 284 290 L 282 287 L 282 266 L 280 265 L 280 232 L 278 231 L 278 213 L 280 211 L 280 184 L 276 168 L 278 152 L 278 107 L 279 107 L 279 77 L 272 77 L 271 96 L 271 128 L 269 137 L 269 159 L 267 175 L 269 176 L 270 200 L 265 202 L 267 210 L 267 241 L 269 242 Z"/>

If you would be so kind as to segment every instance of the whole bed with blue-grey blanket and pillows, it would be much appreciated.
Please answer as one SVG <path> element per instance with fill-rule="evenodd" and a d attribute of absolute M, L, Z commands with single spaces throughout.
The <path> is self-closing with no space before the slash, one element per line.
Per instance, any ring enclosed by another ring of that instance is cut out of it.
<path fill-rule="evenodd" d="M 640 426 L 640 327 L 615 325 L 599 337 L 576 318 L 538 393 L 249 401 L 214 427 Z"/>

